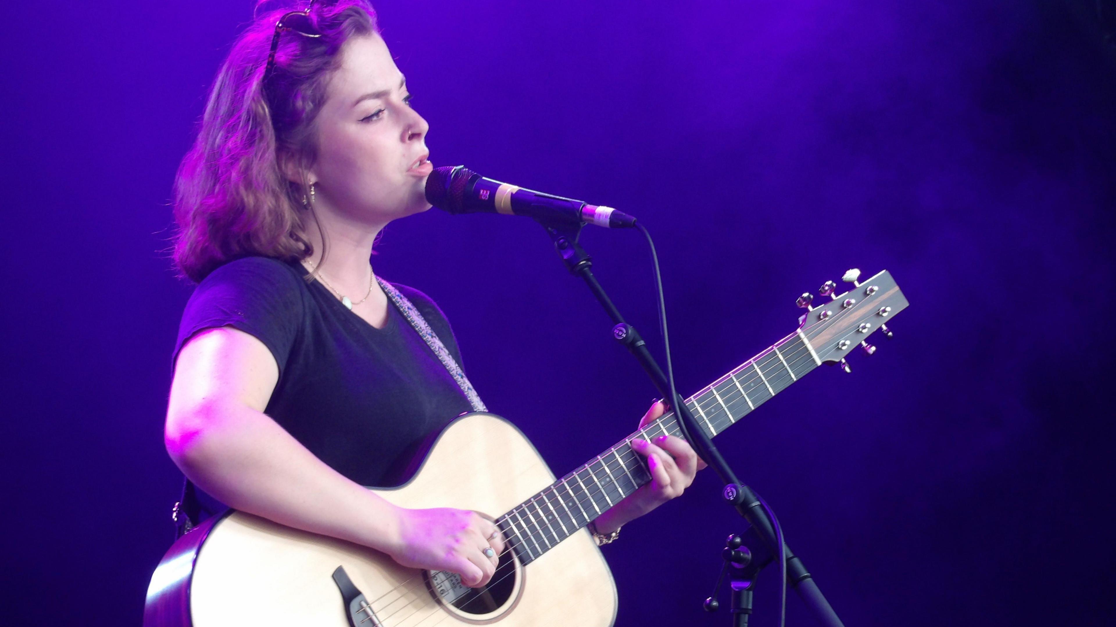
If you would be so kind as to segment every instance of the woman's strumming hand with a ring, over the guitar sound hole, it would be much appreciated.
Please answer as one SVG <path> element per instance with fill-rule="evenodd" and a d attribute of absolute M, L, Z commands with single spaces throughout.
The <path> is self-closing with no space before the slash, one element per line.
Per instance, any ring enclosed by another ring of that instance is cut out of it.
<path fill-rule="evenodd" d="M 504 542 L 496 523 L 477 512 L 437 508 L 400 508 L 400 541 L 392 559 L 410 568 L 448 570 L 461 582 L 480 588 L 492 579 Z M 484 550 L 491 548 L 492 557 Z"/>

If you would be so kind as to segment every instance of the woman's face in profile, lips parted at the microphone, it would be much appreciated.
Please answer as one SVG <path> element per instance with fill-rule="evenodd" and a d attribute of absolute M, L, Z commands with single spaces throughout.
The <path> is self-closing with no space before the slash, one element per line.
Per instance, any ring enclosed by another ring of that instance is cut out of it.
<path fill-rule="evenodd" d="M 424 195 L 430 126 L 407 104 L 403 74 L 376 35 L 349 39 L 315 120 L 316 197 L 374 225 L 430 209 Z"/>

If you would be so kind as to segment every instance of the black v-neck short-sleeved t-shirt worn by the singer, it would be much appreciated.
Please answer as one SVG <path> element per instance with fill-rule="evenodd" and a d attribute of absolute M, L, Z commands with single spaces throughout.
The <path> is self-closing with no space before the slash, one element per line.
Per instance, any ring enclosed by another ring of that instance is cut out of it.
<path fill-rule="evenodd" d="M 231 261 L 194 290 L 182 315 L 182 346 L 229 326 L 260 339 L 279 365 L 264 409 L 311 453 L 363 485 L 406 481 L 433 437 L 471 411 L 464 393 L 388 299 L 377 329 L 299 263 L 263 257 Z M 445 316 L 424 293 L 395 286 L 461 363 Z"/>

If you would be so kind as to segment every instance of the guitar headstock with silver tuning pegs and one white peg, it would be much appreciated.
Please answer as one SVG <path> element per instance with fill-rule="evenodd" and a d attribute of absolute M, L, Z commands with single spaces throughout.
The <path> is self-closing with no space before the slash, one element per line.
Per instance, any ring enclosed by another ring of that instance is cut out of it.
<path fill-rule="evenodd" d="M 876 347 L 868 344 L 868 337 L 882 331 L 891 338 L 887 322 L 908 305 L 887 270 L 865 281 L 860 281 L 859 276 L 860 271 L 855 269 L 845 272 L 841 280 L 853 283 L 853 288 L 841 295 L 836 293 L 837 283 L 826 281 L 818 293 L 830 300 L 821 303 L 814 303 L 811 293 L 798 298 L 798 306 L 807 310 L 799 318 L 801 331 L 818 359 L 838 363 L 846 373 L 850 368 L 845 357 L 858 346 L 868 355 L 875 353 Z"/>

